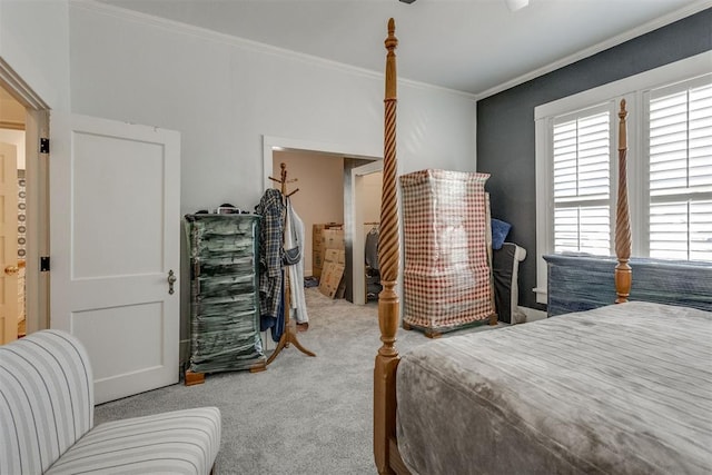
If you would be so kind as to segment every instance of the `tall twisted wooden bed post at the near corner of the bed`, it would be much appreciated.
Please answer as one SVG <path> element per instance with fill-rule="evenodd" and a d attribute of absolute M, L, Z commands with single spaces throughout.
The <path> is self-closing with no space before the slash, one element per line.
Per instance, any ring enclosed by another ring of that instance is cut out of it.
<path fill-rule="evenodd" d="M 380 236 L 378 265 L 383 290 L 378 296 L 378 326 L 380 342 L 374 367 L 374 455 L 379 474 L 393 473 L 389 467 L 389 439 L 396 432 L 395 375 L 398 350 L 395 347 L 399 321 L 399 300 L 395 291 L 398 279 L 398 207 L 396 194 L 396 55 L 398 40 L 395 21 L 388 20 L 386 50 L 386 93 L 383 158 L 383 188 L 380 202 Z"/>

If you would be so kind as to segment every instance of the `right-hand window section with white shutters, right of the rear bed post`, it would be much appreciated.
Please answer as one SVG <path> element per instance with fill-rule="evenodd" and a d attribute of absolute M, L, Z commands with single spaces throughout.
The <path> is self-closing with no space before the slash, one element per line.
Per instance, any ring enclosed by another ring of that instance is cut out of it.
<path fill-rule="evenodd" d="M 712 261 L 712 83 L 681 86 L 645 95 L 649 255 Z"/>

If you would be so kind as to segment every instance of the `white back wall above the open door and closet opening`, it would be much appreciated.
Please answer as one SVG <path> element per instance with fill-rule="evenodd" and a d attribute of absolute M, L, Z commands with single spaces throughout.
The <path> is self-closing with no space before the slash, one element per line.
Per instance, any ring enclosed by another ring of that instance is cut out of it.
<path fill-rule="evenodd" d="M 98 3 L 72 2 L 69 18 L 72 111 L 178 130 L 181 214 L 222 202 L 254 207 L 264 191 L 264 136 L 383 154 L 382 71 Z M 385 53 L 374 51 L 384 65 Z M 474 171 L 475 117 L 471 97 L 402 81 L 402 172 Z M 184 338 L 188 288 L 182 278 Z"/>

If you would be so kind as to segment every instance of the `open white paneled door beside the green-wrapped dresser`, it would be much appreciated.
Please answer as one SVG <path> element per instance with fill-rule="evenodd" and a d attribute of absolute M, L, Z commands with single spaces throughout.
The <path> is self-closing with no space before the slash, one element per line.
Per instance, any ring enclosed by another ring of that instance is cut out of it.
<path fill-rule="evenodd" d="M 70 160 L 52 175 L 68 239 L 52 240 L 51 327 L 87 347 L 97 404 L 177 383 L 180 136 L 72 116 Z"/>

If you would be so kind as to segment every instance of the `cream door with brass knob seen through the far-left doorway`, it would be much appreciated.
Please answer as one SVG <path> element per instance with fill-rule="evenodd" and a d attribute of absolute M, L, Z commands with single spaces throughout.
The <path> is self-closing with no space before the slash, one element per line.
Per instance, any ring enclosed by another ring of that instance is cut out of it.
<path fill-rule="evenodd" d="M 0 142 L 0 345 L 18 337 L 17 147 Z"/>

